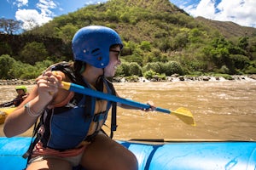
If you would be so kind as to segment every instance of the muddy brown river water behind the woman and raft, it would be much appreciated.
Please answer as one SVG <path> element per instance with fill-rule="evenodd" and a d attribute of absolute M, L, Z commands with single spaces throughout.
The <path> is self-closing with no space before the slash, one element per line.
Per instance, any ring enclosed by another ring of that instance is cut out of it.
<path fill-rule="evenodd" d="M 189 109 L 196 126 L 161 112 L 118 108 L 114 139 L 256 140 L 256 81 L 118 82 L 118 94 L 175 111 Z M 15 97 L 15 86 L 1 86 L 0 103 Z M 30 90 L 31 85 L 28 86 Z M 108 116 L 107 124 L 109 126 Z M 108 132 L 108 127 L 104 127 Z M 31 135 L 32 130 L 21 134 Z M 3 136 L 3 125 L 0 125 Z"/>

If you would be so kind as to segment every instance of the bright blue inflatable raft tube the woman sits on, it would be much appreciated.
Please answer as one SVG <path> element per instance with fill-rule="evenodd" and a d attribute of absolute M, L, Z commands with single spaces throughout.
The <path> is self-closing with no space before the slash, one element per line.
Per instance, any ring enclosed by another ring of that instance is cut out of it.
<path fill-rule="evenodd" d="M 31 138 L 0 137 L 1 170 L 21 170 Z M 256 142 L 206 141 L 160 144 L 118 141 L 136 156 L 140 170 L 255 170 Z"/>

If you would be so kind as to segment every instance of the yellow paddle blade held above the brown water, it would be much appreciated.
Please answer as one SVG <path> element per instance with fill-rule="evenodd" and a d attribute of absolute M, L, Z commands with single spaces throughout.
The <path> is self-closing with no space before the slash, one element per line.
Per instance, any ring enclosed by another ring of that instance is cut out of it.
<path fill-rule="evenodd" d="M 188 109 L 179 107 L 176 111 L 172 111 L 171 113 L 177 116 L 184 123 L 195 126 L 194 116 Z"/>

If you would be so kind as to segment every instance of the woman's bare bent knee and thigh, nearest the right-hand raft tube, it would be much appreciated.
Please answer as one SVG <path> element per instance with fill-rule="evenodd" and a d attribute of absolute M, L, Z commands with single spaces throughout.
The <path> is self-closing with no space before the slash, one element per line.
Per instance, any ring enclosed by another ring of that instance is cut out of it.
<path fill-rule="evenodd" d="M 137 158 L 123 145 L 98 134 L 84 150 L 81 163 L 88 170 L 137 170 Z"/>

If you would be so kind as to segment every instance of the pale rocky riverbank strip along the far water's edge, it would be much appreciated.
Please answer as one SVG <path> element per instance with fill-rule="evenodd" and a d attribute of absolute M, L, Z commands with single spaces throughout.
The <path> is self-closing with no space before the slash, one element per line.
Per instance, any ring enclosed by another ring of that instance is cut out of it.
<path fill-rule="evenodd" d="M 179 82 L 179 81 L 256 81 L 256 75 L 234 75 L 229 77 L 212 77 L 212 76 L 178 76 L 172 75 L 172 77 L 153 77 L 151 79 L 146 79 L 145 77 L 113 77 L 113 82 Z M 35 84 L 35 80 L 0 80 L 1 85 L 32 85 Z"/>

